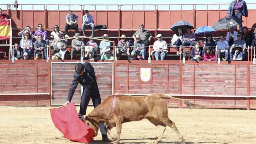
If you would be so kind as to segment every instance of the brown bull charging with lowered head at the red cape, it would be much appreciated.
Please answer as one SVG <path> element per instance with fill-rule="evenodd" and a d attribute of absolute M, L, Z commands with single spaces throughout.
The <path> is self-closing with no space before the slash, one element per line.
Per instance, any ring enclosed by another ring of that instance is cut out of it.
<path fill-rule="evenodd" d="M 84 122 L 94 130 L 94 136 L 98 133 L 99 122 L 104 122 L 109 133 L 111 128 L 116 127 L 117 137 L 115 143 L 120 142 L 122 123 L 138 121 L 144 118 L 148 119 L 152 124 L 161 129 L 161 133 L 155 143 L 161 141 L 166 125 L 171 127 L 179 139 L 185 143 L 185 139 L 179 133 L 175 123 L 168 118 L 168 107 L 164 99 L 182 100 L 188 107 L 202 107 L 197 104 L 192 104 L 184 99 L 161 94 L 138 97 L 114 95 L 106 97 L 92 112 L 86 116 L 84 115 L 83 119 Z"/>

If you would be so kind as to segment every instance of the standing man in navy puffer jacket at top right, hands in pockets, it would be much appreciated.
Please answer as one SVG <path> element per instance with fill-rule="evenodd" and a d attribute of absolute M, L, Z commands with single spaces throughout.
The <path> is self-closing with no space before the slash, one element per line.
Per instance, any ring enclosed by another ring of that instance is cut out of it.
<path fill-rule="evenodd" d="M 230 6 L 227 11 L 227 17 L 237 17 L 241 19 L 242 16 L 248 17 L 248 10 L 246 6 L 246 2 L 243 0 L 234 0 L 230 3 Z M 239 25 L 239 31 L 242 32 L 242 22 Z"/>

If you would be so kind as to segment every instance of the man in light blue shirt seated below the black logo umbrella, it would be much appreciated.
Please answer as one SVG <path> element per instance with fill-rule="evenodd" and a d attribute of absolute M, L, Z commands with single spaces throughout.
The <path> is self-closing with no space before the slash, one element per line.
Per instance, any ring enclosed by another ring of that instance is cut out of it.
<path fill-rule="evenodd" d="M 224 34 L 220 35 L 220 40 L 217 43 L 217 46 L 219 48 L 220 54 L 224 53 L 225 54 L 225 58 L 222 58 L 223 61 L 227 61 L 228 59 L 228 49 L 229 49 L 229 45 L 228 42 L 226 40 L 224 40 Z"/>

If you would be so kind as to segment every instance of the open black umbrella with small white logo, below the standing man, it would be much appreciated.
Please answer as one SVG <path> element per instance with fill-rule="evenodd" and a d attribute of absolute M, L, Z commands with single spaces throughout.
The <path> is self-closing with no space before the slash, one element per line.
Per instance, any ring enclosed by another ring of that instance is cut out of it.
<path fill-rule="evenodd" d="M 214 26 L 213 29 L 221 30 L 221 29 L 230 29 L 234 26 L 237 26 L 241 24 L 243 21 L 241 19 L 238 19 L 237 17 L 224 17 L 223 19 L 218 20 Z"/>

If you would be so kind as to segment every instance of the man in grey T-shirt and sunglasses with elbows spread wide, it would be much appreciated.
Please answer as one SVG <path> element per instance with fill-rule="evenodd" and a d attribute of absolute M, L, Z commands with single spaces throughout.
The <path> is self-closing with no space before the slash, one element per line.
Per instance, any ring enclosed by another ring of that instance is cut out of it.
<path fill-rule="evenodd" d="M 140 35 L 141 36 L 141 40 L 144 41 L 144 45 L 146 47 L 149 46 L 149 42 L 151 40 L 151 38 L 153 38 L 152 34 L 149 33 L 148 31 L 145 30 L 145 27 L 143 24 L 139 25 L 140 29 L 138 31 L 136 31 L 132 37 L 134 38 L 134 41 L 136 41 L 135 35 Z"/>

